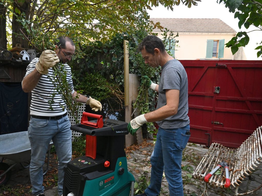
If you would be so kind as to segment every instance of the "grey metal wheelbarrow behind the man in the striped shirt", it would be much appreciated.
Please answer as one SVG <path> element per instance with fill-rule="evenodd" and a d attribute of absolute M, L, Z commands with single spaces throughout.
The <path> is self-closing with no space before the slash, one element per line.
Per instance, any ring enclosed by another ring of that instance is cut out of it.
<path fill-rule="evenodd" d="M 49 168 L 50 149 L 53 145 L 51 141 L 48 147 L 45 175 Z M 3 163 L 4 159 L 9 159 L 15 163 L 8 165 Z M 30 166 L 31 147 L 28 138 L 28 131 L 0 135 L 0 186 L 8 182 L 11 177 L 11 169 L 18 163 L 23 168 Z"/>

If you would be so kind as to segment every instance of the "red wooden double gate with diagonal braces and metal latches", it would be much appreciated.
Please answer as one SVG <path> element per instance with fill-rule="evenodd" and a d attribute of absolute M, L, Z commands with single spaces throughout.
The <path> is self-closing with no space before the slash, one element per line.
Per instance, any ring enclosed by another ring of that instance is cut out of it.
<path fill-rule="evenodd" d="M 188 75 L 189 141 L 239 147 L 262 125 L 262 61 L 180 62 Z"/>

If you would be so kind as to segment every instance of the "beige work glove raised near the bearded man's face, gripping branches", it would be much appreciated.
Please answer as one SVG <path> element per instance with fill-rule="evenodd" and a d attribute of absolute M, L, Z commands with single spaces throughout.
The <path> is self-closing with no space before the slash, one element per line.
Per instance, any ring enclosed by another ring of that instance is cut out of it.
<path fill-rule="evenodd" d="M 58 56 L 53 50 L 44 50 L 35 65 L 36 70 L 41 74 L 48 74 L 48 69 L 59 63 Z"/>

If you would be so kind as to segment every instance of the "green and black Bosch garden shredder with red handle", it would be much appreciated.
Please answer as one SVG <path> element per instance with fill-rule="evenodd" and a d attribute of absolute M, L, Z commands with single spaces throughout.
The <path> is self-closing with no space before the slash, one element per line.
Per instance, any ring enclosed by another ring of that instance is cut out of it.
<path fill-rule="evenodd" d="M 86 154 L 64 168 L 63 196 L 133 196 L 135 179 L 124 151 L 127 123 L 83 112 L 71 130 L 86 134 Z"/>

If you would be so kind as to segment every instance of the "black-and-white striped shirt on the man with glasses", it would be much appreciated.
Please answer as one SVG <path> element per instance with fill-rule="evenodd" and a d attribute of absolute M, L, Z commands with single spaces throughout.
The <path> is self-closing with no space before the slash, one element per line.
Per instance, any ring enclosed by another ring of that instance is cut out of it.
<path fill-rule="evenodd" d="M 35 69 L 36 63 L 39 61 L 39 58 L 33 59 L 30 64 L 26 68 L 25 77 L 31 73 Z M 70 88 L 71 93 L 74 93 L 74 86 L 72 81 L 71 68 L 69 65 L 64 64 L 64 67 L 67 71 L 67 81 L 68 88 Z M 63 105 L 66 108 L 65 101 L 62 99 L 62 96 L 57 93 L 57 90 L 54 89 L 54 85 L 52 84 L 50 78 L 53 76 L 53 69 L 50 68 L 48 70 L 47 75 L 42 75 L 37 83 L 36 87 L 32 90 L 32 100 L 30 105 L 30 114 L 37 116 L 59 116 L 64 114 L 67 110 L 62 109 L 60 106 Z M 49 76 L 49 77 L 48 77 Z M 48 100 L 51 100 L 51 95 L 55 93 L 54 102 L 51 106 L 53 110 L 50 109 L 50 103 Z"/>

